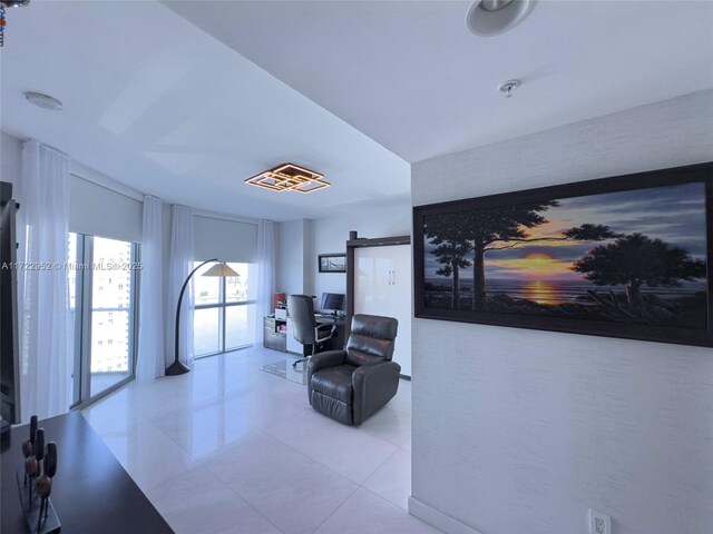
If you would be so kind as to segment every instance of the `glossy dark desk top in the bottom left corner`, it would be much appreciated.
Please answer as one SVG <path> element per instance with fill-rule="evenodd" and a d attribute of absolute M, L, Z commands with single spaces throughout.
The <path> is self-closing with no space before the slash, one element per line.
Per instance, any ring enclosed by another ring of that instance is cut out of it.
<path fill-rule="evenodd" d="M 48 443 L 57 442 L 59 457 L 50 500 L 61 532 L 174 532 L 80 412 L 40 421 L 38 426 L 45 428 Z M 27 532 L 14 476 L 22 467 L 22 441 L 29 433 L 27 425 L 20 426 L 2 441 L 2 534 Z"/>

